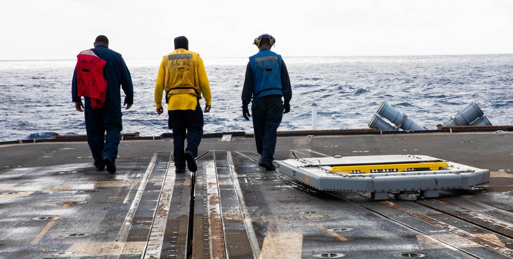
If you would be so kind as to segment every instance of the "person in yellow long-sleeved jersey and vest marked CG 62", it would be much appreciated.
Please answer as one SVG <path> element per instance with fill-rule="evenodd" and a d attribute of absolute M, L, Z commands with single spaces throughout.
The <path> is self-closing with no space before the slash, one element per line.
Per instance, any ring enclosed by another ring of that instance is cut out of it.
<path fill-rule="evenodd" d="M 196 156 L 203 135 L 203 112 L 210 112 L 212 94 L 205 66 L 199 54 L 188 50 L 184 36 L 175 38 L 175 51 L 165 55 L 160 63 L 155 85 L 157 114 L 162 114 L 162 93 L 168 100 L 168 125 L 173 128 L 173 155 L 175 172 L 185 172 L 185 161 L 191 172 L 196 172 Z M 201 96 L 205 109 L 200 107 Z M 187 147 L 184 150 L 184 141 Z"/>

